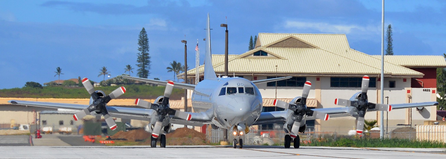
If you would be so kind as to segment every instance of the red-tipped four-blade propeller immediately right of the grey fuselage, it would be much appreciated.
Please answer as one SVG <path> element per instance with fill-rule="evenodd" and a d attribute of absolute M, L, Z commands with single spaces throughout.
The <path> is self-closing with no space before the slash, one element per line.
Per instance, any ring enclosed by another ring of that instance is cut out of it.
<path fill-rule="evenodd" d="M 304 115 L 307 116 L 314 116 L 315 118 L 318 119 L 324 119 L 324 120 L 328 120 L 329 115 L 326 113 L 321 113 L 318 111 L 314 111 L 311 109 L 307 109 L 306 106 L 306 99 L 308 97 L 308 93 L 310 92 L 310 88 L 311 88 L 311 82 L 307 81 L 305 82 L 303 91 L 302 91 L 302 98 L 301 101 L 297 104 L 289 104 L 287 102 L 283 102 L 281 100 L 274 100 L 274 106 L 283 108 L 283 109 L 289 109 L 289 110 L 293 110 L 293 115 L 296 119 L 293 122 L 293 126 L 291 127 L 291 131 L 290 131 L 290 136 L 291 138 L 296 138 L 297 137 L 297 133 L 299 132 L 299 127 L 301 126 L 301 121 Z"/>

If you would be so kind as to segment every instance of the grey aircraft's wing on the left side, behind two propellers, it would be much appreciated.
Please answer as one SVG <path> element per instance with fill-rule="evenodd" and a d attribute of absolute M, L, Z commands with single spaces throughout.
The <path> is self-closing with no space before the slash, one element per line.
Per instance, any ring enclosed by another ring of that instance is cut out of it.
<path fill-rule="evenodd" d="M 32 102 L 32 101 L 19 101 L 10 100 L 11 104 L 23 105 L 23 106 L 37 106 L 45 108 L 55 108 L 55 109 L 70 109 L 70 110 L 83 110 L 88 107 L 88 105 L 81 104 L 67 104 L 67 103 L 53 103 L 53 102 Z M 119 106 L 107 106 L 108 114 L 115 118 L 126 118 L 135 120 L 150 121 L 152 114 L 155 110 L 144 109 L 144 108 L 128 108 Z M 204 113 L 191 113 L 190 120 L 183 120 L 180 118 L 173 117 L 171 123 L 190 125 L 190 126 L 203 126 L 204 124 L 211 123 L 211 119 Z"/>

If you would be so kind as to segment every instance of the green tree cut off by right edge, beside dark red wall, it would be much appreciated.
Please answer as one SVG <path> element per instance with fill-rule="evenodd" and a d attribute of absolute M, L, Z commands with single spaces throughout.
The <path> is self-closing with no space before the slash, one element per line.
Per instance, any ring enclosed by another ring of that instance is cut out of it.
<path fill-rule="evenodd" d="M 446 54 L 443 53 L 443 57 L 446 58 Z M 440 98 L 437 98 L 439 103 L 437 110 L 445 110 L 446 108 L 446 69 L 437 68 L 437 93 Z"/>

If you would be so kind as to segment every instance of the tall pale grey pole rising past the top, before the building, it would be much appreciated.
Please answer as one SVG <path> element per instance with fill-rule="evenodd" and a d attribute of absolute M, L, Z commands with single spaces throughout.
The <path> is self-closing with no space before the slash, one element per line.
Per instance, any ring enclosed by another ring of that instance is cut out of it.
<path fill-rule="evenodd" d="M 384 0 L 381 13 L 381 104 L 384 104 Z M 380 139 L 384 139 L 384 111 L 381 111 Z"/>

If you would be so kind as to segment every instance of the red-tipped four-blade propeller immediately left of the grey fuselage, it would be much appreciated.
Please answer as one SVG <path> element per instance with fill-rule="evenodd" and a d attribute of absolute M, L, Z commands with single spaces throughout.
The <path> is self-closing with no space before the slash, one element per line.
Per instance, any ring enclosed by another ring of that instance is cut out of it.
<path fill-rule="evenodd" d="M 164 90 L 164 98 L 160 104 L 154 104 L 151 102 L 147 102 L 142 99 L 136 99 L 135 104 L 137 106 L 144 107 L 146 109 L 153 109 L 157 111 L 157 121 L 155 122 L 155 126 L 152 130 L 152 137 L 158 138 L 161 132 L 162 122 L 167 114 L 173 115 L 177 118 L 181 118 L 184 120 L 192 119 L 192 115 L 183 111 L 177 111 L 169 107 L 169 98 L 170 94 L 172 94 L 174 83 L 172 81 L 167 82 L 166 88 Z"/>

